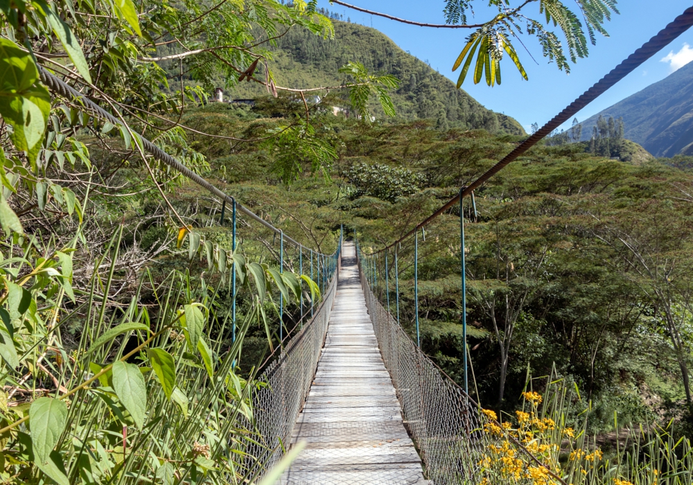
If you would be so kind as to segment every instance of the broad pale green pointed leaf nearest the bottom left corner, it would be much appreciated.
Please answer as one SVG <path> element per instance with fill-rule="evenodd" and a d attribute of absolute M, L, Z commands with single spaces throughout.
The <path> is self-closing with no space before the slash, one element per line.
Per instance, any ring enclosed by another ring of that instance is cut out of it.
<path fill-rule="evenodd" d="M 67 405 L 62 400 L 38 398 L 31 403 L 29 424 L 35 464 L 60 485 L 69 485 L 69 480 L 60 470 L 60 455 L 53 454 L 53 448 L 65 430 L 65 423 L 67 423 Z"/>

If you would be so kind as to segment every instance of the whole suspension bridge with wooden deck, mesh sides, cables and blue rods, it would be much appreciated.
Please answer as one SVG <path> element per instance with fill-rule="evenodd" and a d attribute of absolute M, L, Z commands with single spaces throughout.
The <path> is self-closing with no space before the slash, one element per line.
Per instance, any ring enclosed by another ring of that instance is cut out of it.
<path fill-rule="evenodd" d="M 398 318 L 380 303 L 373 292 L 378 283 L 377 270 L 374 270 L 376 255 L 387 254 L 388 249 L 410 238 L 415 238 L 418 248 L 419 232 L 423 236 L 423 227 L 457 203 L 462 216 L 464 197 L 471 195 L 475 188 L 482 186 L 692 25 L 693 8 L 688 8 L 486 173 L 461 188 L 459 195 L 394 243 L 377 252 L 363 254 L 358 245 L 344 243 L 340 237 L 334 254 L 315 253 L 322 301 L 315 308 L 311 302 L 310 321 L 297 332 L 287 335 L 286 339 L 280 334 L 283 344 L 279 355 L 258 377 L 258 382 L 263 385 L 258 386 L 252 396 L 254 414 L 248 427 L 254 430 L 254 440 L 245 453 L 245 476 L 261 479 L 267 470 L 281 461 L 292 444 L 305 441 L 308 443 L 306 448 L 279 479 L 282 485 L 477 482 L 478 459 L 487 444 L 482 430 L 486 418 L 482 418 L 480 406 L 465 389 L 421 352 L 418 342 L 403 330 Z M 55 94 L 79 100 L 85 111 L 114 125 L 121 124 L 119 118 L 42 67 L 40 77 Z M 300 243 L 250 209 L 237 204 L 234 197 L 220 191 L 157 145 L 141 136 L 139 139 L 142 148 L 150 155 L 219 197 L 224 208 L 227 203 L 231 204 L 234 220 L 232 249 L 236 249 L 238 210 L 279 235 L 279 267 L 282 271 L 285 265 L 284 243 L 291 243 L 299 249 L 299 264 L 303 272 L 306 248 Z M 462 308 L 465 308 L 464 217 L 460 217 L 460 236 Z M 311 276 L 313 256 L 311 251 Z M 415 261 L 418 268 L 417 252 Z M 415 283 L 415 295 L 417 288 L 418 283 Z M 415 300 L 417 303 L 416 296 Z M 280 299 L 280 315 L 282 305 Z M 418 336 L 418 307 L 416 330 Z M 518 452 L 527 454 L 529 459 L 543 466 L 520 443 L 516 442 L 514 446 Z M 565 483 L 550 470 L 549 473 L 556 482 Z"/>

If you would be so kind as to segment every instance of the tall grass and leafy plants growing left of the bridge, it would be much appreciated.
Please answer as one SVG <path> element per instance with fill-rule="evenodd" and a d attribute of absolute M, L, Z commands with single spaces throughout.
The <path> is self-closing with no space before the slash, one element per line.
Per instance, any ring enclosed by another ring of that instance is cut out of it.
<path fill-rule="evenodd" d="M 280 293 L 296 304 L 302 284 L 314 298 L 319 290 L 301 275 L 250 263 L 240 251 L 219 258 L 215 249 L 214 264 L 223 261 L 218 270 L 227 273 L 216 285 L 187 270 L 159 281 L 146 271 L 119 306 L 109 295 L 120 243 L 116 233 L 76 298 L 69 247 L 27 249 L 0 263 L 0 482 L 254 482 L 248 470 L 262 467 L 247 447 L 262 442 L 252 424 L 258 384 L 236 366 L 243 339 L 251 325 L 267 327 Z M 231 342 L 218 299 L 234 263 L 245 304 Z M 66 332 L 72 325 L 76 342 Z"/>

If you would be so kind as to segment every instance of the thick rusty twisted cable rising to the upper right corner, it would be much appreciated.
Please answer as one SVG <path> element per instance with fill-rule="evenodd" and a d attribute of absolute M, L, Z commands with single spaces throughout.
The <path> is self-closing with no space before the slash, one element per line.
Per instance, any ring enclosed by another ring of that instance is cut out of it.
<path fill-rule="evenodd" d="M 460 195 L 455 195 L 455 197 L 446 202 L 444 206 L 441 206 L 440 209 L 432 213 L 428 218 L 426 218 L 426 220 L 423 220 L 422 222 L 419 222 L 419 224 L 416 224 L 416 227 L 414 227 L 414 229 L 407 232 L 404 236 L 396 240 L 394 243 L 383 247 L 383 249 L 378 249 L 378 251 L 375 251 L 372 254 L 387 251 L 387 249 L 390 249 L 395 245 L 401 243 L 403 240 L 409 238 L 410 236 L 413 236 L 416 233 L 416 231 L 419 230 L 419 228 L 428 225 L 430 222 L 438 218 L 439 215 L 441 215 L 448 209 L 452 208 L 455 204 L 457 204 L 457 202 L 459 202 L 460 197 L 466 197 L 467 195 L 470 195 L 475 188 L 479 188 L 479 186 L 481 186 L 482 184 L 484 184 L 484 182 L 493 177 L 493 175 L 500 172 L 500 170 L 505 168 L 505 166 L 518 159 L 520 155 L 523 155 L 523 153 L 527 152 L 527 150 L 536 145 L 538 141 L 550 134 L 553 130 L 556 130 L 556 128 L 565 123 L 565 121 L 568 121 L 570 118 L 572 118 L 572 116 L 577 114 L 577 112 L 586 107 L 588 104 L 592 103 L 593 100 L 604 94 L 604 91 L 606 91 L 607 89 L 615 85 L 617 82 L 628 76 L 631 72 L 637 69 L 640 66 L 640 64 L 647 61 L 653 55 L 658 53 L 662 48 L 664 48 L 670 42 L 676 39 L 676 37 L 683 34 L 692 25 L 693 7 L 690 7 L 687 8 L 685 12 L 683 12 L 683 14 L 676 17 L 676 19 L 674 19 L 674 21 L 672 21 L 671 24 L 667 25 L 665 28 L 663 28 L 663 30 L 660 30 L 660 32 L 657 35 L 649 39 L 649 41 L 645 42 L 642 45 L 642 47 L 638 48 L 637 51 L 629 55 L 628 58 L 626 58 L 626 60 L 618 64 L 614 69 L 611 70 L 610 73 L 608 73 L 606 76 L 604 76 L 604 78 L 600 79 L 595 85 L 593 85 L 593 87 L 590 87 L 590 89 L 585 91 L 581 96 L 579 96 L 579 98 L 570 103 L 570 105 L 563 109 L 562 112 L 554 116 L 554 118 L 552 118 L 551 121 L 543 125 L 543 127 L 541 127 L 540 130 L 532 134 L 532 136 L 529 136 L 529 138 L 523 141 L 523 143 L 520 143 L 520 145 L 518 145 L 508 155 L 506 155 L 504 159 L 499 161 L 498 164 L 495 164 L 493 167 L 489 168 L 489 170 L 487 170 L 486 173 L 481 175 L 478 179 L 476 179 L 468 186 L 464 187 Z"/>

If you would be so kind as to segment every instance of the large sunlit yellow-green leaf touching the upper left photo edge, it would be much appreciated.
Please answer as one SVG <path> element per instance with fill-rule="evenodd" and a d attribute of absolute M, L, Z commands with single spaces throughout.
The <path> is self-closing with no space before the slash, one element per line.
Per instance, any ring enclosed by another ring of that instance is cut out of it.
<path fill-rule="evenodd" d="M 35 164 L 51 112 L 51 95 L 38 82 L 33 58 L 0 39 L 0 115 L 12 125 L 12 142 Z"/>

